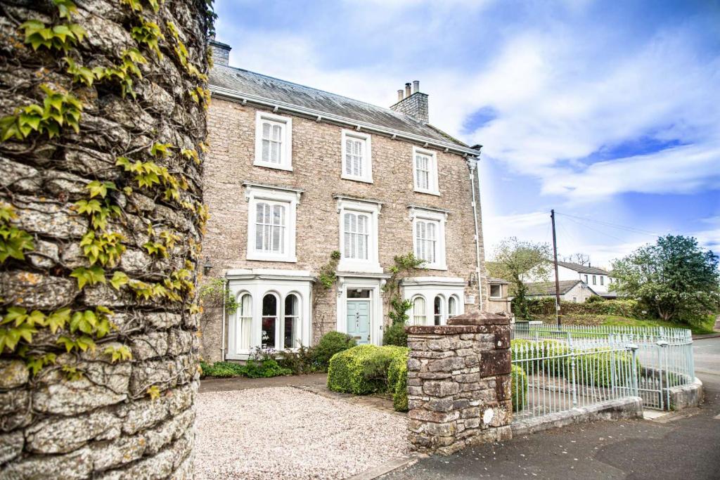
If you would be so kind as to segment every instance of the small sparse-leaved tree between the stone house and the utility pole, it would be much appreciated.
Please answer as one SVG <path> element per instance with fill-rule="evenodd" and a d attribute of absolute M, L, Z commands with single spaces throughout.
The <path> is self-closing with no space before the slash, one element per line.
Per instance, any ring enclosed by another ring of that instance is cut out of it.
<path fill-rule="evenodd" d="M 520 318 L 529 318 L 525 285 L 528 271 L 534 277 L 546 278 L 550 273 L 550 247 L 546 243 L 534 243 L 509 237 L 495 247 L 492 261 L 486 263 L 490 276 L 510 282 L 513 312 Z"/>

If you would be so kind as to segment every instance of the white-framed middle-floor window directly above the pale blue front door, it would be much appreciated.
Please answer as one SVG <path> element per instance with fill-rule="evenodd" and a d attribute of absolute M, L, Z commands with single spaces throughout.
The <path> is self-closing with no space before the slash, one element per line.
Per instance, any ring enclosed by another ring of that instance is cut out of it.
<path fill-rule="evenodd" d="M 377 217 L 381 204 L 336 196 L 340 214 L 338 271 L 382 273 L 378 262 Z"/>

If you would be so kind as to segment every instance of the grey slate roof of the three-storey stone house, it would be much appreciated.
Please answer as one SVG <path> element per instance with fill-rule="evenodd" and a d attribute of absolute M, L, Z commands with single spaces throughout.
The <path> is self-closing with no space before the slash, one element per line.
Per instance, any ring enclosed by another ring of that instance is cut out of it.
<path fill-rule="evenodd" d="M 258 96 L 269 101 L 279 101 L 294 107 L 312 109 L 319 114 L 331 114 L 356 122 L 364 122 L 411 135 L 419 135 L 431 141 L 445 142 L 468 148 L 451 135 L 391 109 L 377 107 L 346 96 L 312 89 L 242 68 L 215 65 L 210 70 L 210 87 L 228 89 L 236 94 Z"/>

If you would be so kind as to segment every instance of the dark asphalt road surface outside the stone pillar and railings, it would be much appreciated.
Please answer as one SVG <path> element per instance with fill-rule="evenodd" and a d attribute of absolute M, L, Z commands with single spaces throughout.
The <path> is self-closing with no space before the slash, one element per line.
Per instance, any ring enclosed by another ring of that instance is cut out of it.
<path fill-rule="evenodd" d="M 700 409 L 575 425 L 425 458 L 382 479 L 720 479 L 720 338 L 696 340 Z"/>

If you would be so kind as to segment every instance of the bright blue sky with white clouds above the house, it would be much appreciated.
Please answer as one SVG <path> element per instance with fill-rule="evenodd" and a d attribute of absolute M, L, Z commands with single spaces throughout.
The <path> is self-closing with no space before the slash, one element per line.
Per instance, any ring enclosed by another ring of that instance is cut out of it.
<path fill-rule="evenodd" d="M 720 250 L 717 1 L 216 0 L 230 64 L 390 106 L 406 81 L 480 162 L 503 237 L 609 265 L 654 235 Z"/>

